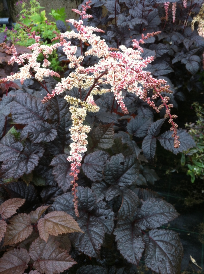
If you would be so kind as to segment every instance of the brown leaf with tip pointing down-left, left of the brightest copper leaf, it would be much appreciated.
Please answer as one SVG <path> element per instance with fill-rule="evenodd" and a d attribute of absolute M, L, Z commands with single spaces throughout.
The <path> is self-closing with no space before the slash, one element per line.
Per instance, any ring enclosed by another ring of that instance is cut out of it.
<path fill-rule="evenodd" d="M 9 222 L 5 233 L 4 246 L 22 242 L 33 231 L 30 215 L 26 213 L 14 216 Z"/>

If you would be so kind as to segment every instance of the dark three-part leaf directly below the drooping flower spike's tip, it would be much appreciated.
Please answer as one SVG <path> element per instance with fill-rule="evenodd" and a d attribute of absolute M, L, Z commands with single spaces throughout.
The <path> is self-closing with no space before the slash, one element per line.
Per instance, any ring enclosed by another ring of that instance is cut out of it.
<path fill-rule="evenodd" d="M 77 189 L 80 216 L 77 222 L 84 233 L 74 233 L 70 239 L 77 249 L 88 256 L 97 257 L 105 232 L 111 233 L 113 230 L 114 213 L 106 206 L 105 202 L 96 203 L 94 193 L 88 187 L 78 187 Z M 65 193 L 58 197 L 53 208 L 54 210 L 63 210 L 76 218 L 71 193 Z"/>

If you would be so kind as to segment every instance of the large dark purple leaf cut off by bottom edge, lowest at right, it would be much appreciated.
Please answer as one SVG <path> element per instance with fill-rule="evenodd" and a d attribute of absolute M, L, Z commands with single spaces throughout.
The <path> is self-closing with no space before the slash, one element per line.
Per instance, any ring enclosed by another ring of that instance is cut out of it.
<path fill-rule="evenodd" d="M 171 230 L 150 230 L 144 237 L 145 264 L 156 273 L 180 273 L 183 248 L 179 236 Z"/>

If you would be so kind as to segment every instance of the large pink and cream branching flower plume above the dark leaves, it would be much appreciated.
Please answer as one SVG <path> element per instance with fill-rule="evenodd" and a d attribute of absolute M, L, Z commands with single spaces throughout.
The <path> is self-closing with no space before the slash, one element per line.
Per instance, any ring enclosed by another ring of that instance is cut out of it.
<path fill-rule="evenodd" d="M 88 1 L 86 2 L 86 6 L 82 5 L 82 11 L 75 9 L 73 11 L 78 13 L 82 20 L 90 18 L 92 16 L 86 14 L 87 8 L 90 8 L 90 3 L 91 1 Z M 68 77 L 62 78 L 61 82 L 57 83 L 56 87 L 52 90 L 52 94 L 48 93 L 42 100 L 42 103 L 46 103 L 56 94 L 58 95 L 66 90 L 71 90 L 73 87 L 77 87 L 79 92 L 81 92 L 82 89 L 88 89 L 84 101 L 71 96 L 65 96 L 66 101 L 71 105 L 69 110 L 72 113 L 71 120 L 73 121 L 71 127 L 71 139 L 73 142 L 70 145 L 70 156 L 67 159 L 72 162 L 72 172 L 70 175 L 73 176 L 73 181 L 71 183 L 73 184 L 73 202 L 76 216 L 78 216 L 78 201 L 76 195 L 76 187 L 78 184 L 76 181 L 78 180 L 78 173 L 80 172 L 78 167 L 81 165 L 82 154 L 86 152 L 87 133 L 90 131 L 90 127 L 83 125 L 83 121 L 85 120 L 87 111 L 99 111 L 99 107 L 94 103 L 92 96 L 99 92 L 99 90 L 96 89 L 98 85 L 103 84 L 103 82 L 111 85 L 111 90 L 101 89 L 100 92 L 105 93 L 112 91 L 118 105 L 125 114 L 129 112 L 123 101 L 124 97 L 122 96 L 122 91 L 124 89 L 128 92 L 134 93 L 136 96 L 139 96 L 140 99 L 146 101 L 147 104 L 149 104 L 157 113 L 161 108 L 165 107 L 165 118 L 169 118 L 169 123 L 172 125 L 170 130 L 173 131 L 172 137 L 174 138 L 174 147 L 178 148 L 180 144 L 178 140 L 179 136 L 177 135 L 177 124 L 173 122 L 173 118 L 176 118 L 177 116 L 170 114 L 170 108 L 172 108 L 173 105 L 168 104 L 168 96 L 162 96 L 164 92 L 171 93 L 169 90 L 170 86 L 166 85 L 167 82 L 165 80 L 157 80 L 151 76 L 150 72 L 143 70 L 153 61 L 154 58 L 150 56 L 144 60 L 140 56 L 143 49 L 139 44 L 143 44 L 145 39 L 157 35 L 159 32 L 148 33 L 146 36 L 142 35 L 142 39 L 139 41 L 133 39 L 133 48 L 126 48 L 126 46 L 122 45 L 119 46 L 120 51 L 118 51 L 118 49 L 108 48 L 104 39 L 102 40 L 99 36 L 93 33 L 103 32 L 102 30 L 91 26 L 84 26 L 82 20 L 67 20 L 67 22 L 73 24 L 77 32 L 73 30 L 61 34 L 55 32 L 56 37 L 53 40 L 59 40 L 59 42 L 51 46 L 41 45 L 40 37 L 36 36 L 35 32 L 31 32 L 28 27 L 24 26 L 30 33 L 29 38 L 35 39 L 35 43 L 28 47 L 33 51 L 32 54 L 22 54 L 18 56 L 14 45 L 8 47 L 5 43 L 0 44 L 0 46 L 7 49 L 8 54 L 13 54 L 9 63 L 17 62 L 19 65 L 22 65 L 20 73 L 15 73 L 3 78 L 0 82 L 20 79 L 21 83 L 23 83 L 25 79 L 33 76 L 41 86 L 48 91 L 45 82 L 43 84 L 43 77 L 49 75 L 60 77 L 60 75 L 47 68 L 50 65 L 47 58 L 54 49 L 63 46 L 63 51 L 70 61 L 69 67 L 75 68 L 75 71 L 71 72 Z M 83 42 L 88 42 L 92 48 L 85 52 L 85 56 L 97 56 L 100 58 L 99 62 L 94 66 L 84 68 L 82 66 L 84 57 L 82 55 L 79 57 L 75 56 L 77 46 L 71 45 L 71 41 L 68 41 L 68 39 L 71 38 L 79 39 L 81 45 Z M 44 56 L 42 66 L 41 63 L 37 62 L 37 57 L 40 53 Z M 25 63 L 26 60 L 27 62 Z M 153 90 L 151 98 L 147 96 L 149 90 Z M 157 98 L 161 98 L 162 100 L 162 104 L 159 107 L 155 106 L 153 101 Z"/>

